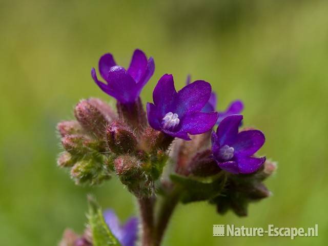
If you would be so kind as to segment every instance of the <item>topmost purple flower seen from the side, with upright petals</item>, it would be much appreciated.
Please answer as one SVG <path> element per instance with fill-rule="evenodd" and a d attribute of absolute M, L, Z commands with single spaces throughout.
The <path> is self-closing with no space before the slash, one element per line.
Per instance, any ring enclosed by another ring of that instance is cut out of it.
<path fill-rule="evenodd" d="M 155 70 L 152 57 L 141 50 L 135 50 L 130 67 L 117 66 L 113 55 L 107 53 L 99 59 L 99 72 L 107 84 L 98 80 L 96 70 L 92 68 L 91 76 L 95 83 L 108 95 L 115 97 L 122 104 L 134 103 L 141 89 L 146 85 Z"/>

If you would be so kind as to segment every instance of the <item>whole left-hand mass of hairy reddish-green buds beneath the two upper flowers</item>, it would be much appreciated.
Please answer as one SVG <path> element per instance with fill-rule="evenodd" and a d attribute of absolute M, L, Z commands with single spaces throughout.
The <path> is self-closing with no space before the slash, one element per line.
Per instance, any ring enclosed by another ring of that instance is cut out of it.
<path fill-rule="evenodd" d="M 70 168 L 77 184 L 97 185 L 115 173 L 136 196 L 151 196 L 173 138 L 148 127 L 140 99 L 117 108 L 118 115 L 100 99 L 81 100 L 76 120 L 57 125 L 65 149 L 58 166 Z M 131 120 L 131 110 L 138 111 L 136 120 Z"/>

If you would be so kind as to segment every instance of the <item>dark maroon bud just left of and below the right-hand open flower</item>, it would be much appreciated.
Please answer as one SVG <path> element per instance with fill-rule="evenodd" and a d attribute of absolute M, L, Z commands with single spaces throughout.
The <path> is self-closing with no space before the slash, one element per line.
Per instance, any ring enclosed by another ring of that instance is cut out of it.
<path fill-rule="evenodd" d="M 221 171 L 212 158 L 211 150 L 197 153 L 188 166 L 189 173 L 199 177 L 212 176 Z"/>

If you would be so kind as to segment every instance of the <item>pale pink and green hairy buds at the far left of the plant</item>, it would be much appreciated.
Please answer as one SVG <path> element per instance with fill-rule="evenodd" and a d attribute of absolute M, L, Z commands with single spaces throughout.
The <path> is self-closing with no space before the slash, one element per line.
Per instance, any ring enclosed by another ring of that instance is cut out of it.
<path fill-rule="evenodd" d="M 57 125 L 61 145 L 65 152 L 58 157 L 59 167 L 70 168 L 77 184 L 96 185 L 111 176 L 105 132 L 107 125 L 116 118 L 112 109 L 96 98 L 81 100 L 75 107 L 75 120 Z"/>

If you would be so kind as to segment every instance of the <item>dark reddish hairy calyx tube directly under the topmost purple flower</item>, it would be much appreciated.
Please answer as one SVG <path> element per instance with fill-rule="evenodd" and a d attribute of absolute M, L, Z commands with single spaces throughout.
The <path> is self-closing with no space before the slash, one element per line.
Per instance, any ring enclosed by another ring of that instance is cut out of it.
<path fill-rule="evenodd" d="M 146 112 L 142 105 L 140 97 L 134 103 L 122 104 L 117 101 L 116 104 L 119 119 L 126 122 L 136 132 L 140 132 L 148 125 Z"/>

